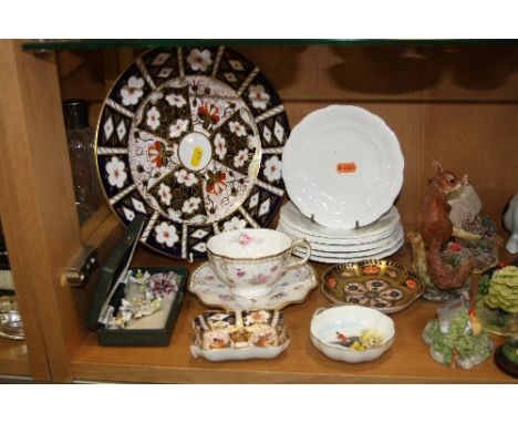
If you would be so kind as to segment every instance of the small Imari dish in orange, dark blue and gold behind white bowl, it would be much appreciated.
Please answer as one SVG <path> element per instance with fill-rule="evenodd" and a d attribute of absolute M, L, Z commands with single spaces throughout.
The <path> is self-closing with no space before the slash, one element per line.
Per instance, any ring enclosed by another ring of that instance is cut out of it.
<path fill-rule="evenodd" d="M 322 292 L 335 305 L 356 305 L 386 314 L 408 307 L 424 283 L 405 267 L 387 260 L 335 265 L 322 276 Z"/>

